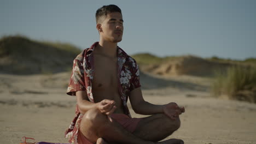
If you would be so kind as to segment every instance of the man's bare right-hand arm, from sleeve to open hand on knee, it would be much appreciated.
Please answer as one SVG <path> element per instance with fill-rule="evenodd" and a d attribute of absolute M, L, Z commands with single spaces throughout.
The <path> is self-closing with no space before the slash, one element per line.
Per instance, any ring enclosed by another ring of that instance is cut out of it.
<path fill-rule="evenodd" d="M 145 101 L 142 97 L 141 88 L 135 88 L 129 95 L 133 111 L 141 115 L 154 115 L 165 113 L 170 118 L 176 118 L 185 111 L 184 107 L 179 107 L 176 103 L 165 105 L 154 105 Z"/>

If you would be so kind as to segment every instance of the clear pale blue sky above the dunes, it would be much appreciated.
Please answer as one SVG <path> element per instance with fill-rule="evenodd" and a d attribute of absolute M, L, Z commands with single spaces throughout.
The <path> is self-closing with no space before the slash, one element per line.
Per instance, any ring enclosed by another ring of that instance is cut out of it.
<path fill-rule="evenodd" d="M 23 34 L 85 49 L 99 40 L 95 12 L 108 4 L 122 10 L 118 45 L 129 54 L 256 57 L 254 0 L 0 0 L 0 37 Z"/>

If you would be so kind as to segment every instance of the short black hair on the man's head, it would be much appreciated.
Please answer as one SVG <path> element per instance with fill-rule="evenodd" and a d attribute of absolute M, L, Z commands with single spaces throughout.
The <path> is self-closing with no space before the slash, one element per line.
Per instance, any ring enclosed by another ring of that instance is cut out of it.
<path fill-rule="evenodd" d="M 122 14 L 121 9 L 114 4 L 109 4 L 109 5 L 103 5 L 103 7 L 99 8 L 96 11 L 96 23 L 98 23 L 98 20 L 100 19 L 101 16 L 107 16 L 107 14 L 109 13 L 114 13 L 114 12 L 118 12 L 120 14 Z"/>

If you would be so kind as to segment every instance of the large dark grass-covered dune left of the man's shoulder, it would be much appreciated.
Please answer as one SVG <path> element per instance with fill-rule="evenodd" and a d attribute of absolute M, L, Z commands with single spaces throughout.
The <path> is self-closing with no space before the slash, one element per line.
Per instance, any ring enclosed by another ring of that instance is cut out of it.
<path fill-rule="evenodd" d="M 82 50 L 60 42 L 39 41 L 24 35 L 0 39 L 0 73 L 54 74 L 70 71 L 74 58 Z"/>

